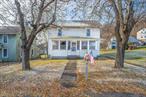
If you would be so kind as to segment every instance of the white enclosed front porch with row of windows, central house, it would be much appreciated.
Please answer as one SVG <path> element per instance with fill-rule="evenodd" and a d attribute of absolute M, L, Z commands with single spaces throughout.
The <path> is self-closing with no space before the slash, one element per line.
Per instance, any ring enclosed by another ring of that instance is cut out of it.
<path fill-rule="evenodd" d="M 86 52 L 99 56 L 99 40 L 95 38 L 52 38 L 49 43 L 49 55 L 53 58 L 82 58 Z"/>

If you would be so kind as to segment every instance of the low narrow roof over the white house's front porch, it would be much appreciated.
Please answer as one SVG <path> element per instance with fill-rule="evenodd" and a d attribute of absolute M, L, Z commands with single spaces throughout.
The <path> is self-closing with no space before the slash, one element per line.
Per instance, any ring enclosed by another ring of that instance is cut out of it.
<path fill-rule="evenodd" d="M 81 36 L 58 36 L 58 37 L 50 37 L 50 39 L 97 39 L 97 38 L 81 37 Z"/>

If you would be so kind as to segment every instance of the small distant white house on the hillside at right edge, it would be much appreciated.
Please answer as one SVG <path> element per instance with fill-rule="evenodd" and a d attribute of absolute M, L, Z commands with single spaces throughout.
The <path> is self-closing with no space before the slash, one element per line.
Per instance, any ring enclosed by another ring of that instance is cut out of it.
<path fill-rule="evenodd" d="M 137 32 L 137 39 L 146 42 L 146 28 Z"/>

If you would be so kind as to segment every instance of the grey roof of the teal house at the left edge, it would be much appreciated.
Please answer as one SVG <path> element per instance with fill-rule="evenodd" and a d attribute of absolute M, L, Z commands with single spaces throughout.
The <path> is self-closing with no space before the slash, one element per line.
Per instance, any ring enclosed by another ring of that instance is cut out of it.
<path fill-rule="evenodd" d="M 0 26 L 0 34 L 17 34 L 19 32 L 19 26 Z"/>

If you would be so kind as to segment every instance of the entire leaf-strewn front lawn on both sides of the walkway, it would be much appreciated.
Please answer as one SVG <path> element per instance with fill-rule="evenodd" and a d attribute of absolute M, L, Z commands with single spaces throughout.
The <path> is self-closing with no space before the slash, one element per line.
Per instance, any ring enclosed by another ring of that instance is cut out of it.
<path fill-rule="evenodd" d="M 146 69 L 141 67 L 125 65 L 125 68 L 118 70 L 113 68 L 113 60 L 98 59 L 95 65 L 89 65 L 86 81 L 85 61 L 73 60 L 77 61 L 77 79 L 74 87 L 65 88 L 59 78 L 68 60 L 57 61 L 46 60 L 49 63 L 31 65 L 31 71 L 17 70 L 17 65 L 0 67 L 0 96 L 100 97 L 97 95 L 104 92 L 146 95 Z M 44 63 L 41 60 L 35 62 Z"/>

